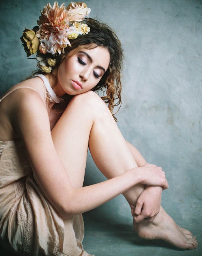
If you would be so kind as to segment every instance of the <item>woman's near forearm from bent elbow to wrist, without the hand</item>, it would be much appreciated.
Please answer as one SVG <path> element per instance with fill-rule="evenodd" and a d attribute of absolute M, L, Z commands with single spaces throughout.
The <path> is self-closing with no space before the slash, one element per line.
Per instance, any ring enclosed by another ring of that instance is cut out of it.
<path fill-rule="evenodd" d="M 63 218 L 74 214 L 92 210 L 119 194 L 127 191 L 137 183 L 142 182 L 139 168 L 130 169 L 112 179 L 94 185 L 73 189 L 68 196 L 64 209 L 61 209 Z"/>

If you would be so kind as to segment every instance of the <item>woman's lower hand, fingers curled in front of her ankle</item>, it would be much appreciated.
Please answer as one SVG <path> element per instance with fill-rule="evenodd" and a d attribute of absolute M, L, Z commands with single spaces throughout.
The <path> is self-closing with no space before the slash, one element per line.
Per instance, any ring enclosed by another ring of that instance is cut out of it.
<path fill-rule="evenodd" d="M 140 194 L 136 206 L 131 213 L 136 223 L 147 219 L 152 221 L 159 213 L 161 206 L 162 187 L 147 186 Z"/>

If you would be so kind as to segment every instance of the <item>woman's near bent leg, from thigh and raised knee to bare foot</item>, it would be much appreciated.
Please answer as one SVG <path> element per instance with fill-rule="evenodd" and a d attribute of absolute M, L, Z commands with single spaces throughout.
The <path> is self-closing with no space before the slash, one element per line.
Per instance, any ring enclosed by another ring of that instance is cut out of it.
<path fill-rule="evenodd" d="M 52 135 L 74 187 L 83 185 L 88 144 L 96 165 L 108 178 L 137 166 L 108 108 L 93 92 L 73 98 Z M 137 185 L 127 191 L 128 202 L 135 205 L 143 189 Z M 197 247 L 189 231 L 178 227 L 163 208 L 154 221 L 134 223 L 134 228 L 145 239 L 163 239 L 184 249 Z"/>

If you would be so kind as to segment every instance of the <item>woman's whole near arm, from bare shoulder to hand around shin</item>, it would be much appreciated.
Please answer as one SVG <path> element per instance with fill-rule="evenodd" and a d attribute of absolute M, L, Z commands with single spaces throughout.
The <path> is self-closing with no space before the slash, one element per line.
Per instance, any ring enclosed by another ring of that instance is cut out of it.
<path fill-rule="evenodd" d="M 147 165 L 102 183 L 74 189 L 54 147 L 46 106 L 37 92 L 29 90 L 21 95 L 13 110 L 12 123 L 25 142 L 38 184 L 63 218 L 100 206 L 137 183 L 167 187 L 162 169 Z"/>

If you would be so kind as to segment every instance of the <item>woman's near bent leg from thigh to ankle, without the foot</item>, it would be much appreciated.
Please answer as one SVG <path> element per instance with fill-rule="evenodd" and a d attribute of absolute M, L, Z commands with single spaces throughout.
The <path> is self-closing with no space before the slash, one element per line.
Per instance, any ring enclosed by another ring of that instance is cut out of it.
<path fill-rule="evenodd" d="M 107 178 L 137 167 L 106 104 L 94 92 L 71 100 L 52 137 L 73 187 L 83 186 L 88 145 L 96 165 Z M 143 189 L 144 185 L 139 184 L 127 191 L 127 200 L 135 204 Z"/>

